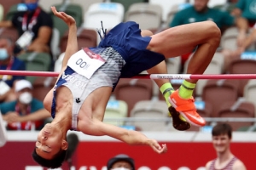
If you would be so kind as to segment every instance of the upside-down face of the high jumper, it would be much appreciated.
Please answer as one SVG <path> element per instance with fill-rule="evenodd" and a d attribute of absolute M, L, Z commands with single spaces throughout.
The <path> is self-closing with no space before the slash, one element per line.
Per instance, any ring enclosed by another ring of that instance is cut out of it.
<path fill-rule="evenodd" d="M 52 159 L 60 150 L 67 150 L 67 141 L 62 139 L 61 131 L 46 124 L 44 128 L 38 133 L 38 140 L 36 142 L 36 152 L 38 156 L 44 159 Z"/>

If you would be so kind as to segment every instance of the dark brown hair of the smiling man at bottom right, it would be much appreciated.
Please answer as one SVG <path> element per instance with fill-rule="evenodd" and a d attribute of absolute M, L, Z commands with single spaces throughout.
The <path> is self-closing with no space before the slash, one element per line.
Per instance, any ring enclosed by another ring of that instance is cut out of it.
<path fill-rule="evenodd" d="M 232 127 L 228 123 L 219 123 L 212 128 L 212 136 L 218 136 L 221 134 L 227 134 L 229 138 L 232 138 Z"/>

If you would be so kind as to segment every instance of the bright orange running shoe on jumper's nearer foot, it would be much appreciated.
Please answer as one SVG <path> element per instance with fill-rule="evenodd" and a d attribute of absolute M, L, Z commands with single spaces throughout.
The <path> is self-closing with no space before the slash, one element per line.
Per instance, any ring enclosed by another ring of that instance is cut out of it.
<path fill-rule="evenodd" d="M 206 125 L 206 121 L 196 112 L 195 99 L 193 97 L 190 99 L 182 99 L 178 95 L 178 90 L 176 90 L 171 94 L 169 102 L 190 124 L 196 127 Z"/>

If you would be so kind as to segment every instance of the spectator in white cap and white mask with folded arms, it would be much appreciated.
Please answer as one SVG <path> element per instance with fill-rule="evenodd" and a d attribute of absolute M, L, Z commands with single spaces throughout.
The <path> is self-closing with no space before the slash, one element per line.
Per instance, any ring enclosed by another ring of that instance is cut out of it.
<path fill-rule="evenodd" d="M 38 99 L 32 98 L 32 84 L 27 80 L 15 83 L 17 99 L 0 105 L 3 120 L 9 130 L 36 130 L 44 126 L 44 119 L 50 114 Z"/>

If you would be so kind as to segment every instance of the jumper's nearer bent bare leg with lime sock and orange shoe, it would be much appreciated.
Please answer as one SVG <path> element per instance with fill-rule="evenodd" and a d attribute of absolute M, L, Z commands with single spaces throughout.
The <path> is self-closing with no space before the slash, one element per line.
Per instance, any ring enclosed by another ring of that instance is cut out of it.
<path fill-rule="evenodd" d="M 220 36 L 218 26 L 212 21 L 197 22 L 155 34 L 148 44 L 148 49 L 171 58 L 197 48 L 189 61 L 187 73 L 203 74 L 218 48 Z M 171 94 L 170 102 L 188 122 L 201 127 L 206 122 L 197 114 L 192 97 L 196 82 L 197 80 L 184 80 L 181 88 Z"/>

